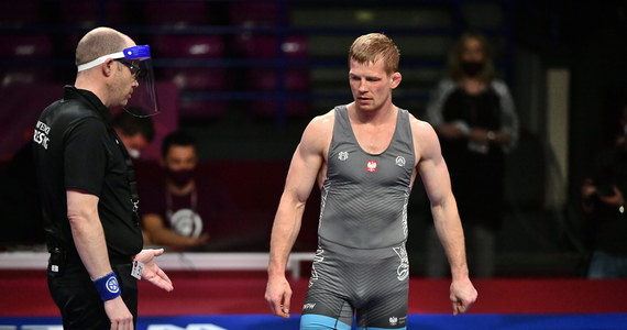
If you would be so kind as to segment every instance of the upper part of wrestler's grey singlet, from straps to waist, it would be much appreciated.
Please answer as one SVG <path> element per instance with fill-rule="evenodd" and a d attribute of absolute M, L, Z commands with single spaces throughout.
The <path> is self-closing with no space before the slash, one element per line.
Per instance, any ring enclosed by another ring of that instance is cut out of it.
<path fill-rule="evenodd" d="M 320 238 L 355 249 L 404 242 L 414 157 L 407 110 L 398 109 L 387 150 L 373 155 L 360 147 L 346 107 L 336 107 L 329 166 L 321 188 Z"/>

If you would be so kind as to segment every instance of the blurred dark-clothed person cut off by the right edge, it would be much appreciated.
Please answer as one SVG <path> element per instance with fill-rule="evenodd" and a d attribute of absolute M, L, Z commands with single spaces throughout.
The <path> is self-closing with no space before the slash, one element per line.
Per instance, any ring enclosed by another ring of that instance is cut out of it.
<path fill-rule="evenodd" d="M 614 145 L 596 156 L 593 176 L 581 187 L 583 209 L 592 228 L 588 278 L 627 277 L 627 106 L 620 124 Z"/>

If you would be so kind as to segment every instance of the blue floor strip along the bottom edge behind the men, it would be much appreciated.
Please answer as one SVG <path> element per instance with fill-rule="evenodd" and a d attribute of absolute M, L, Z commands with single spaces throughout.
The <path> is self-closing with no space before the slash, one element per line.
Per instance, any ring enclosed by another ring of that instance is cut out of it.
<path fill-rule="evenodd" d="M 142 317 L 138 330 L 293 330 L 299 317 L 270 315 Z M 61 330 L 61 318 L 0 317 L 0 330 Z M 410 315 L 417 330 L 626 330 L 627 314 L 593 315 Z"/>

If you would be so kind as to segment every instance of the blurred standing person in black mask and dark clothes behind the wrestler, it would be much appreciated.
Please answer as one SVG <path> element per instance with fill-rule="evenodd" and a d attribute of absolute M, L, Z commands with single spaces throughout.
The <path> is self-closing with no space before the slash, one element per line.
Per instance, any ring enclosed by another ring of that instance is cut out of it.
<path fill-rule="evenodd" d="M 494 237 L 502 224 L 504 156 L 516 145 L 518 117 L 507 86 L 495 77 L 483 35 L 465 33 L 459 38 L 448 72 L 429 100 L 427 121 L 438 132 L 449 166 L 470 268 L 475 277 L 492 277 Z M 428 231 L 427 242 L 427 276 L 446 276 L 435 230 Z"/>

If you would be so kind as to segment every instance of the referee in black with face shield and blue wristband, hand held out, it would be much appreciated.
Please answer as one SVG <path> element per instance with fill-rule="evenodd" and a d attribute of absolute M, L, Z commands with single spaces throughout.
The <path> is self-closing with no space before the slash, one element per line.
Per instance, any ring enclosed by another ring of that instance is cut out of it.
<path fill-rule="evenodd" d="M 146 59 L 147 46 L 116 30 L 88 32 L 76 48 L 75 85 L 35 125 L 48 288 L 66 330 L 133 329 L 135 277 L 173 289 L 154 262 L 163 250 L 142 250 L 132 163 L 110 123 L 109 109 L 128 106 L 141 86 Z"/>

